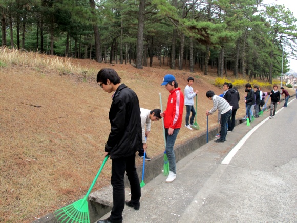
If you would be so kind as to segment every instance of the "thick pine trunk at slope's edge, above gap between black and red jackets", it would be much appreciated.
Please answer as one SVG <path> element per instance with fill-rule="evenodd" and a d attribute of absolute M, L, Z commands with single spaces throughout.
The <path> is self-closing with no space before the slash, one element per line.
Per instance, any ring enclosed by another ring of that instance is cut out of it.
<path fill-rule="evenodd" d="M 142 69 L 145 0 L 139 0 L 136 68 Z"/>

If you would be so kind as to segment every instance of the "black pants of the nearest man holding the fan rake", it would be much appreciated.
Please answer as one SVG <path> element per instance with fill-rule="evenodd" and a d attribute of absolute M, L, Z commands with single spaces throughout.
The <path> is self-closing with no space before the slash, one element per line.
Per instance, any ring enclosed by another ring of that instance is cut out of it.
<path fill-rule="evenodd" d="M 122 212 L 125 207 L 125 171 L 130 183 L 131 201 L 135 206 L 139 205 L 141 197 L 140 183 L 135 166 L 135 154 L 128 157 L 112 159 L 112 176 L 111 184 L 113 186 L 113 208 L 109 217 L 113 222 L 121 222 L 123 220 Z"/>

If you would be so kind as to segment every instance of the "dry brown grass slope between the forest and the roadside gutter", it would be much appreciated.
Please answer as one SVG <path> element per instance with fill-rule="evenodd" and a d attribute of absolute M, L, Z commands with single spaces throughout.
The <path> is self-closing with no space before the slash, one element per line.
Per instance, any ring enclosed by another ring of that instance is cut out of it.
<path fill-rule="evenodd" d="M 168 92 L 160 86 L 165 74 L 174 74 L 182 90 L 187 77 L 194 76 L 200 130 L 181 128 L 176 145 L 206 130 L 205 110 L 212 102 L 205 92 L 222 92 L 213 86 L 215 73 L 169 70 L 157 61 L 152 68 L 137 70 L 1 49 L 0 62 L 0 222 L 31 222 L 86 194 L 104 159 L 110 131 L 111 95 L 95 83 L 101 68 L 115 69 L 147 109 L 160 108 L 159 92 L 166 107 Z M 209 128 L 216 123 L 217 115 L 210 116 Z M 156 121 L 147 153 L 154 158 L 163 150 L 161 121 Z M 93 190 L 110 184 L 110 170 L 108 161 Z"/>

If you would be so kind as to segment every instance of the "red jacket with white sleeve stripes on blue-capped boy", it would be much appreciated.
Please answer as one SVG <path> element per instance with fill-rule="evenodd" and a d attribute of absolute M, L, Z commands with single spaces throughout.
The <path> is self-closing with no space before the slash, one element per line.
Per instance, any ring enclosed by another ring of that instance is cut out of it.
<path fill-rule="evenodd" d="M 184 107 L 184 95 L 180 88 L 170 91 L 167 108 L 164 111 L 165 129 L 179 129 L 182 123 L 182 113 Z"/>

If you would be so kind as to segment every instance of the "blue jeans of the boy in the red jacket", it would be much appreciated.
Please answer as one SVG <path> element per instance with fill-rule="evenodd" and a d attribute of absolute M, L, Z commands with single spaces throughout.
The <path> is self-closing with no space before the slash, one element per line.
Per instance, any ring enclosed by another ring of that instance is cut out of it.
<path fill-rule="evenodd" d="M 180 129 L 174 129 L 172 135 L 168 135 L 168 129 L 165 129 L 165 139 L 166 139 L 166 154 L 169 161 L 169 170 L 171 172 L 176 173 L 176 161 L 175 161 L 175 154 L 174 154 L 174 143 L 177 137 L 177 134 Z"/>

